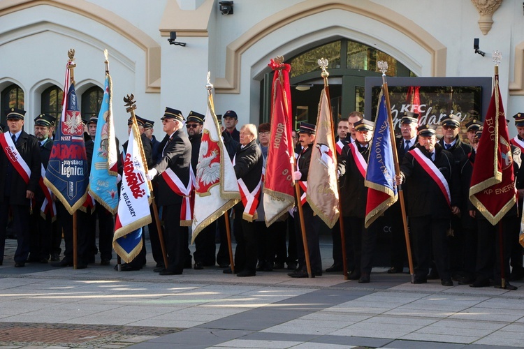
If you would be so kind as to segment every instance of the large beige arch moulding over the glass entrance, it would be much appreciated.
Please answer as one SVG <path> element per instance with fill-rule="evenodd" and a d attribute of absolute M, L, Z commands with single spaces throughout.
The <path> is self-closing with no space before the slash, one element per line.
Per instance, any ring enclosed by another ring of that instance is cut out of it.
<path fill-rule="evenodd" d="M 446 74 L 446 47 L 409 18 L 368 0 L 354 1 L 354 3 L 345 3 L 345 1 L 340 0 L 307 0 L 265 18 L 226 47 L 225 76 L 217 78 L 214 82 L 217 93 L 240 93 L 241 57 L 250 47 L 282 27 L 305 17 L 330 10 L 343 10 L 394 29 L 399 38 L 409 38 L 425 52 L 428 52 L 430 55 L 428 61 L 430 65 L 429 76 L 444 76 Z M 329 24 L 328 27 L 332 25 Z M 361 28 L 361 30 L 355 28 L 352 30 L 370 37 L 380 37 L 379 33 L 374 32 L 375 29 L 372 26 Z"/>

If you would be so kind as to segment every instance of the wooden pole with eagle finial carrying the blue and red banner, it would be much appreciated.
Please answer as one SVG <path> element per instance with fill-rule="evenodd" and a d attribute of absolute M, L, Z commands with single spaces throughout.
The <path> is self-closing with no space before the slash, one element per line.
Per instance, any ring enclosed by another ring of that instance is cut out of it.
<path fill-rule="evenodd" d="M 393 150 L 393 162 L 395 163 L 395 173 L 400 174 L 400 164 L 398 163 L 397 147 L 393 147 L 395 142 L 395 132 L 393 132 L 393 117 L 391 117 L 391 104 L 389 103 L 388 81 L 386 79 L 386 71 L 388 71 L 388 63 L 386 61 L 377 62 L 382 73 L 382 88 L 384 89 L 384 96 L 386 97 L 386 108 L 388 110 L 389 121 L 389 136 L 391 138 L 391 148 Z M 412 246 L 409 242 L 409 230 L 407 228 L 406 204 L 404 201 L 404 191 L 402 185 L 398 185 L 398 200 L 400 200 L 400 209 L 402 210 L 402 224 L 404 225 L 404 237 L 406 239 L 407 262 L 409 264 L 409 274 L 412 276 L 412 283 L 415 283 L 415 274 L 413 269 Z"/>

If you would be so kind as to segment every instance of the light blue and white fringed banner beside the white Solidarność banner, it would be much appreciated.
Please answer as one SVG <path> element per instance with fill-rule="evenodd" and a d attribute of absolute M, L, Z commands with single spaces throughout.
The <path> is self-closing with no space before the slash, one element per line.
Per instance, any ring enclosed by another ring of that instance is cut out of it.
<path fill-rule="evenodd" d="M 112 80 L 105 74 L 105 91 L 96 123 L 89 193 L 111 214 L 117 213 L 117 142 L 112 114 Z"/>

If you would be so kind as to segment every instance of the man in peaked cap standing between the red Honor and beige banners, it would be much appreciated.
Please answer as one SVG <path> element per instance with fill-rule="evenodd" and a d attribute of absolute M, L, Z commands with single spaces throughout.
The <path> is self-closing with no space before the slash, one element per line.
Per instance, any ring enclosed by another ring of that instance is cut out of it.
<path fill-rule="evenodd" d="M 300 144 L 302 145 L 303 149 L 298 156 L 297 168 L 296 171 L 293 172 L 293 179 L 295 181 L 300 181 L 300 198 L 297 200 L 302 200 L 303 192 L 307 191 L 307 174 L 310 172 L 311 152 L 316 137 L 316 126 L 314 124 L 308 124 L 307 122 L 301 122 L 298 134 L 300 135 Z M 313 209 L 305 200 L 302 200 L 302 211 L 304 216 L 307 249 L 310 252 L 312 277 L 322 276 L 322 258 L 320 255 L 319 246 L 321 218 L 313 214 Z M 302 229 L 300 228 L 300 218 L 298 217 L 298 211 L 296 212 L 295 222 L 298 269 L 296 269 L 296 271 L 293 273 L 289 273 L 288 275 L 292 278 L 307 278 L 309 275 L 307 274 L 304 243 Z"/>

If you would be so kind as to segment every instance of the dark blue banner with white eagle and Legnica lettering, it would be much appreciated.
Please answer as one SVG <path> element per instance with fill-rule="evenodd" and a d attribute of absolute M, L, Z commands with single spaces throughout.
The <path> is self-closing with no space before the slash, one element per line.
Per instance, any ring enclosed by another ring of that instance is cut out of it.
<path fill-rule="evenodd" d="M 73 62 L 69 61 L 66 66 L 62 113 L 58 119 L 57 133 L 54 136 L 44 179 L 45 185 L 52 190 L 70 214 L 84 203 L 89 184 L 84 126 L 80 117 L 75 85 L 71 84 L 68 69 L 72 64 Z"/>

